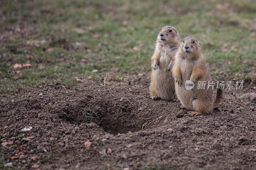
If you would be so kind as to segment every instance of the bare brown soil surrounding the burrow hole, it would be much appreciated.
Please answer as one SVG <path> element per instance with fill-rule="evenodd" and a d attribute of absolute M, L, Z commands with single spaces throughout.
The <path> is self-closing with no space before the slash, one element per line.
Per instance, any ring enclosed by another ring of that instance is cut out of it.
<path fill-rule="evenodd" d="M 255 92 L 248 82 L 241 91 L 224 90 L 212 113 L 177 118 L 180 102 L 150 99 L 149 76 L 109 80 L 106 90 L 89 82 L 2 94 L 1 143 L 14 142 L 1 145 L 2 163 L 14 169 L 34 163 L 40 169 L 256 168 L 256 103 L 237 97 Z M 86 114 L 95 123 L 84 123 Z M 32 129 L 22 132 L 27 126 Z M 19 152 L 25 161 L 11 159 Z"/>

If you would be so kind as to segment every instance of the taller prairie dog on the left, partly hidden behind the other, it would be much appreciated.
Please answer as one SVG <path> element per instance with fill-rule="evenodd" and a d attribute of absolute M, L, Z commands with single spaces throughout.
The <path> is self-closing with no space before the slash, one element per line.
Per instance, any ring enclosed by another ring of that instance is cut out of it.
<path fill-rule="evenodd" d="M 155 52 L 151 57 L 150 95 L 153 100 L 160 98 L 172 101 L 176 97 L 174 78 L 172 73 L 166 72 L 166 67 L 176 54 L 179 45 L 180 35 L 178 31 L 173 26 L 162 27 L 157 36 Z"/>

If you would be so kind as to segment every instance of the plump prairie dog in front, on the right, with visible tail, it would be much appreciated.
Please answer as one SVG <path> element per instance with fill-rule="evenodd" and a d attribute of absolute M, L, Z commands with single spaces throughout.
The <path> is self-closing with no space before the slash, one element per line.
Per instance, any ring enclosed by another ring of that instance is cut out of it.
<path fill-rule="evenodd" d="M 181 42 L 174 57 L 172 74 L 176 79 L 175 91 L 182 104 L 181 108 L 191 110 L 188 115 L 209 113 L 220 103 L 222 90 L 218 89 L 216 99 L 213 101 L 213 89 L 211 87 L 207 89 L 208 83 L 212 83 L 212 77 L 202 47 L 195 37 L 188 36 Z M 191 81 L 189 83 L 191 85 L 194 83 L 194 88 L 190 90 L 185 88 L 187 80 Z M 205 87 L 197 89 L 198 81 L 205 81 Z"/>

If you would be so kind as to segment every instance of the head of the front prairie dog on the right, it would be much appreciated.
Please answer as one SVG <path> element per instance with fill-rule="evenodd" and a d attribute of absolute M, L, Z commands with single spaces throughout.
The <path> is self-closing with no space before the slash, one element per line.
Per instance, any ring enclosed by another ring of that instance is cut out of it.
<path fill-rule="evenodd" d="M 188 36 L 183 39 L 180 44 L 180 50 L 188 56 L 195 56 L 202 54 L 202 47 L 197 41 L 196 37 Z"/>

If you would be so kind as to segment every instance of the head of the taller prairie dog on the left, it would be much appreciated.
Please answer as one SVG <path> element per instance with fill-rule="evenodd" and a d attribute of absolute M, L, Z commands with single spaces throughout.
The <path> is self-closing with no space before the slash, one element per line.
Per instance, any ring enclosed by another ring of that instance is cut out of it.
<path fill-rule="evenodd" d="M 180 35 L 173 26 L 164 26 L 157 36 L 157 42 L 161 44 L 180 44 Z"/>

